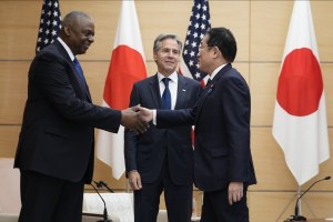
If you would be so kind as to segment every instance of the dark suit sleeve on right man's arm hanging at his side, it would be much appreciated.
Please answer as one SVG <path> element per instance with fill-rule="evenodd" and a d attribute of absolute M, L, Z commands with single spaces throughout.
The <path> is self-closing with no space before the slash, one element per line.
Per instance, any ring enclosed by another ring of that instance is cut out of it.
<path fill-rule="evenodd" d="M 229 178 L 246 181 L 250 163 L 251 98 L 243 79 L 229 78 L 223 82 L 222 103 L 229 147 Z M 228 101 L 228 102 L 226 102 Z"/>

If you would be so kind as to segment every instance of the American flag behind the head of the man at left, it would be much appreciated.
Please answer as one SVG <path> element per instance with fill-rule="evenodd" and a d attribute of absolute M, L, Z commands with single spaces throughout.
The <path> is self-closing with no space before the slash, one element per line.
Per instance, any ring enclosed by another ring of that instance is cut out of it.
<path fill-rule="evenodd" d="M 40 17 L 36 53 L 52 43 L 61 29 L 61 14 L 58 0 L 44 0 Z"/>

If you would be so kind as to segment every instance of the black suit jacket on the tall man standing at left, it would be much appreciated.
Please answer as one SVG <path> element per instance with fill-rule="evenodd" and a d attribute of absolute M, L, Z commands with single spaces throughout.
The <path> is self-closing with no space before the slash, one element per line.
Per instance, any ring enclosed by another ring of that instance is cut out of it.
<path fill-rule="evenodd" d="M 29 70 L 28 100 L 14 167 L 90 183 L 94 131 L 118 132 L 121 113 L 93 105 L 88 85 L 59 41 L 44 48 Z"/>

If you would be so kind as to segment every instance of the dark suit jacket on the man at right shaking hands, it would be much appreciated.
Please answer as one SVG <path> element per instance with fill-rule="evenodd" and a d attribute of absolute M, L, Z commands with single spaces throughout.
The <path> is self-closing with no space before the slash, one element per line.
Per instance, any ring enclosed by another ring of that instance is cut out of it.
<path fill-rule="evenodd" d="M 159 127 L 195 125 L 194 182 L 203 191 L 230 182 L 256 183 L 250 149 L 250 90 L 242 75 L 226 64 L 204 89 L 192 109 L 157 112 Z"/>

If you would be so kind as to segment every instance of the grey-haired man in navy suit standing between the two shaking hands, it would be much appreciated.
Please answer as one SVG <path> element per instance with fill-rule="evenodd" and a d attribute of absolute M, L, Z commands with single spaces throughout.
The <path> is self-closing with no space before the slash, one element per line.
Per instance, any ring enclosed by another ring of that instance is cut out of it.
<path fill-rule="evenodd" d="M 182 42 L 175 34 L 160 34 L 153 44 L 157 74 L 133 85 L 130 107 L 185 109 L 195 104 L 200 83 L 176 72 Z M 192 213 L 193 148 L 191 125 L 124 133 L 127 175 L 134 191 L 134 221 L 155 222 L 160 195 L 170 222 L 190 222 Z"/>

